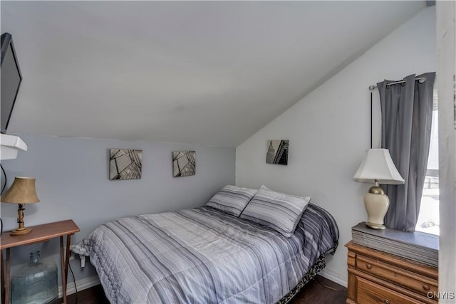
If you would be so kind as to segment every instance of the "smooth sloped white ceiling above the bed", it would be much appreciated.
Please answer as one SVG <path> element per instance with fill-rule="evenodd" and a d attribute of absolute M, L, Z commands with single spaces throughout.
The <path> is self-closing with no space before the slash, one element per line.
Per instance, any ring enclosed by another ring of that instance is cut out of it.
<path fill-rule="evenodd" d="M 236 147 L 425 1 L 1 1 L 9 133 Z"/>

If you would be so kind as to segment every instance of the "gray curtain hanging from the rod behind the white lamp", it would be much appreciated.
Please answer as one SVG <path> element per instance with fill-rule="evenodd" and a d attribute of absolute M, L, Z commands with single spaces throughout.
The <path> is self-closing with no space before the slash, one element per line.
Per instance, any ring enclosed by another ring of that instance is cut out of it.
<path fill-rule="evenodd" d="M 403 185 L 383 186 L 390 198 L 385 225 L 402 231 L 415 231 L 429 155 L 435 73 L 416 76 L 420 77 L 425 78 L 424 83 L 415 80 L 415 74 L 397 85 L 387 85 L 393 80 L 377 83 L 382 111 L 382 147 L 390 150 L 405 180 Z"/>

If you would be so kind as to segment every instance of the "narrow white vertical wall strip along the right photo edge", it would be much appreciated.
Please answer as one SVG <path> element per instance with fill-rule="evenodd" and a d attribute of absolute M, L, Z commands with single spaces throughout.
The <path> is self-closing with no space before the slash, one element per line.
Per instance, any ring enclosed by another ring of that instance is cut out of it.
<path fill-rule="evenodd" d="M 439 303 L 455 303 L 456 293 L 456 4 L 437 1 L 437 78 L 440 151 Z"/>

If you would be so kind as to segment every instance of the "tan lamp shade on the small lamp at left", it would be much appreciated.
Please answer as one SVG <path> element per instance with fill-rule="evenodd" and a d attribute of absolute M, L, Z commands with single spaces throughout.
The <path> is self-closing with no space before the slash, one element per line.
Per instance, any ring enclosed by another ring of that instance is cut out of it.
<path fill-rule="evenodd" d="M 36 196 L 35 179 L 31 177 L 15 177 L 11 187 L 1 196 L 3 203 L 29 204 L 38 201 L 40 200 Z"/>

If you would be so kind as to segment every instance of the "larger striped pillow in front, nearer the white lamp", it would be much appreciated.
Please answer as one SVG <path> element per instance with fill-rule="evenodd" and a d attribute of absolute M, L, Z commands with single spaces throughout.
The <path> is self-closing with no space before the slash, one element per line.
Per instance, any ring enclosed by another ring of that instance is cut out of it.
<path fill-rule="evenodd" d="M 239 217 L 268 226 L 280 234 L 290 237 L 294 234 L 310 200 L 310 196 L 302 197 L 274 192 L 261 186 Z"/>

